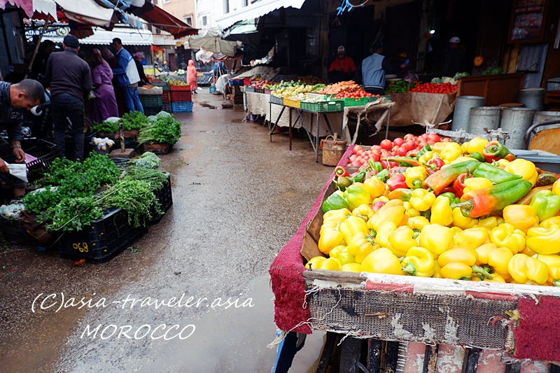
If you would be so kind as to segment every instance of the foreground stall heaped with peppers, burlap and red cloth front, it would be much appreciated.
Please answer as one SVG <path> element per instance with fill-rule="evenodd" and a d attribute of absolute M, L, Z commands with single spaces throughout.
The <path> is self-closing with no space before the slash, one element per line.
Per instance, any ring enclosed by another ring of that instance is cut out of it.
<path fill-rule="evenodd" d="M 480 138 L 350 146 L 269 269 L 276 325 L 367 339 L 370 371 L 393 342 L 559 362 L 559 177 Z"/>

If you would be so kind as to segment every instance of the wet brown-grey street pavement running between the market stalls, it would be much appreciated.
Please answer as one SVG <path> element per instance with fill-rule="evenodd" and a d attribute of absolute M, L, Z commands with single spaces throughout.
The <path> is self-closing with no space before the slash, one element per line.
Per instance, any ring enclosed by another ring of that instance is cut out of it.
<path fill-rule="evenodd" d="M 270 372 L 267 269 L 332 167 L 314 162 L 301 134 L 292 151 L 287 135 L 269 142 L 267 127 L 244 121 L 239 106 L 221 109 L 208 88 L 194 101 L 193 113 L 176 114 L 183 136 L 161 156 L 174 205 L 131 248 L 78 267 L 54 248 L 1 249 L 0 373 Z M 57 311 L 62 294 L 66 305 L 74 297 L 98 307 Z M 55 306 L 41 310 L 43 300 Z M 314 352 L 298 356 L 294 372 L 317 360 L 322 338 L 309 339 Z"/>

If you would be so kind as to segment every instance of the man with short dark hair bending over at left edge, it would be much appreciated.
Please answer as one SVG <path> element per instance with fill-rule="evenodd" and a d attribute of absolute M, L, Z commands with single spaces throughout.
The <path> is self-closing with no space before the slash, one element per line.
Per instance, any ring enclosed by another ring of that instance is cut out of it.
<path fill-rule="evenodd" d="M 36 80 L 25 79 L 17 84 L 0 82 L 0 129 L 8 132 L 8 141 L 0 137 L 0 178 L 13 189 L 15 197 L 25 194 L 25 181 L 9 174 L 8 164 L 25 162 L 22 150 L 22 113 L 43 104 L 45 91 Z"/>

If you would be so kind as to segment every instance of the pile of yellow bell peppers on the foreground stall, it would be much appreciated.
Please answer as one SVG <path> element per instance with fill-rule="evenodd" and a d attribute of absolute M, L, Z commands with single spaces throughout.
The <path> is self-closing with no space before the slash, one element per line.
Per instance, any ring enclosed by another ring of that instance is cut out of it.
<path fill-rule="evenodd" d="M 347 203 L 323 214 L 318 249 L 325 256 L 312 258 L 306 267 L 560 286 L 560 209 L 554 211 L 551 206 L 556 202 L 545 200 L 560 196 L 560 181 L 539 185 L 540 175 L 532 162 L 508 156 L 510 160 L 503 157 L 492 162 L 509 174 L 500 171 L 493 178 L 493 169 L 486 167 L 486 174 L 481 171 L 476 177 L 470 175 L 474 169 L 468 170 L 464 183 L 458 184 L 461 190 L 453 188 L 454 181 L 443 190 L 429 186 L 434 173 L 428 162 L 434 157 L 444 161 L 441 171 L 445 171 L 461 162 L 472 164 L 475 153 L 484 157 L 505 154 L 499 147 L 494 153 L 486 150 L 493 144 L 479 138 L 463 145 L 435 143 L 421 155 L 416 163 L 420 166 L 410 162 L 400 189 L 390 189 L 372 173 L 344 193 L 338 190 L 335 194 L 341 198 L 332 199 L 330 206 Z M 461 206 L 468 199 L 461 196 L 496 188 L 508 175 L 517 178 L 512 183 L 531 183 L 531 190 L 517 204 L 511 202 L 482 216 L 464 213 Z M 538 190 L 532 188 L 552 193 L 540 193 L 540 204 L 533 207 L 529 197 Z M 552 217 L 540 221 L 539 216 Z"/>

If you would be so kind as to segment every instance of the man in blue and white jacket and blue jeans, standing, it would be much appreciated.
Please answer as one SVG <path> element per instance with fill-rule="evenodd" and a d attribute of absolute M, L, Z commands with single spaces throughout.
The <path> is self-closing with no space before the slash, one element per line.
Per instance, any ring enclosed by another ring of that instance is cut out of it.
<path fill-rule="evenodd" d="M 118 85 L 125 92 L 125 104 L 129 111 L 139 111 L 144 114 L 144 108 L 138 97 L 138 82 L 140 76 L 136 63 L 128 50 L 123 48 L 120 38 L 114 38 L 111 44 L 116 52 L 117 67 L 113 69 L 113 75 L 118 78 Z"/>

